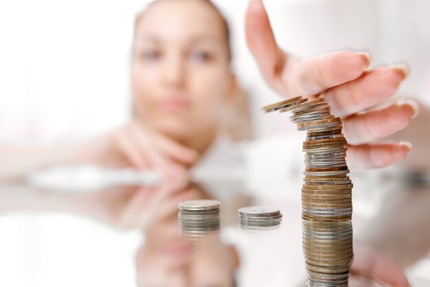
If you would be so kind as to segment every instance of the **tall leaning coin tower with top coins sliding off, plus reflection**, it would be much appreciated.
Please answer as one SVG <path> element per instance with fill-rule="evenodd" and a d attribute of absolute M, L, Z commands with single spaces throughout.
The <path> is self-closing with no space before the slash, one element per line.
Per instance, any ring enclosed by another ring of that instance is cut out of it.
<path fill-rule="evenodd" d="M 348 286 L 352 251 L 352 182 L 346 164 L 342 122 L 324 98 L 294 97 L 265 106 L 266 112 L 292 112 L 306 130 L 302 188 L 303 250 L 308 286 Z"/>

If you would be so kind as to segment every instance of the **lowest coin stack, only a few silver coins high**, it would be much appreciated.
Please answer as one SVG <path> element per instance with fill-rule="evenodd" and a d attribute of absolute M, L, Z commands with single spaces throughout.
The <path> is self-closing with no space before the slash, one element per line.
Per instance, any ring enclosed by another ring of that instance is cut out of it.
<path fill-rule="evenodd" d="M 239 227 L 247 230 L 275 229 L 282 221 L 280 210 L 274 207 L 242 207 L 238 216 Z"/>

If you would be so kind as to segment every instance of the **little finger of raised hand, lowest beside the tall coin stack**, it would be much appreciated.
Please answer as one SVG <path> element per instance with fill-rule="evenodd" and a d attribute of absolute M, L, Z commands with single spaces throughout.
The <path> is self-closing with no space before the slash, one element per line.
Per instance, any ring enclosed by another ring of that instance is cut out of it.
<path fill-rule="evenodd" d="M 346 159 L 355 168 L 383 168 L 405 159 L 410 143 L 375 143 L 348 146 Z"/>

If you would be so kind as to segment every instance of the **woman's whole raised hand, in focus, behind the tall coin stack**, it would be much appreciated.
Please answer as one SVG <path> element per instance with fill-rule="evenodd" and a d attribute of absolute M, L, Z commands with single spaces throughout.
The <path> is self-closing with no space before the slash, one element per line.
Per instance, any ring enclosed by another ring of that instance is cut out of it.
<path fill-rule="evenodd" d="M 332 113 L 342 117 L 350 143 L 348 158 L 355 166 L 378 168 L 401 161 L 406 143 L 371 143 L 405 128 L 417 111 L 414 102 L 392 104 L 362 112 L 396 93 L 406 67 L 370 66 L 370 57 L 338 51 L 297 60 L 278 47 L 262 1 L 251 1 L 246 17 L 247 41 L 264 79 L 286 96 L 324 96 Z"/>

